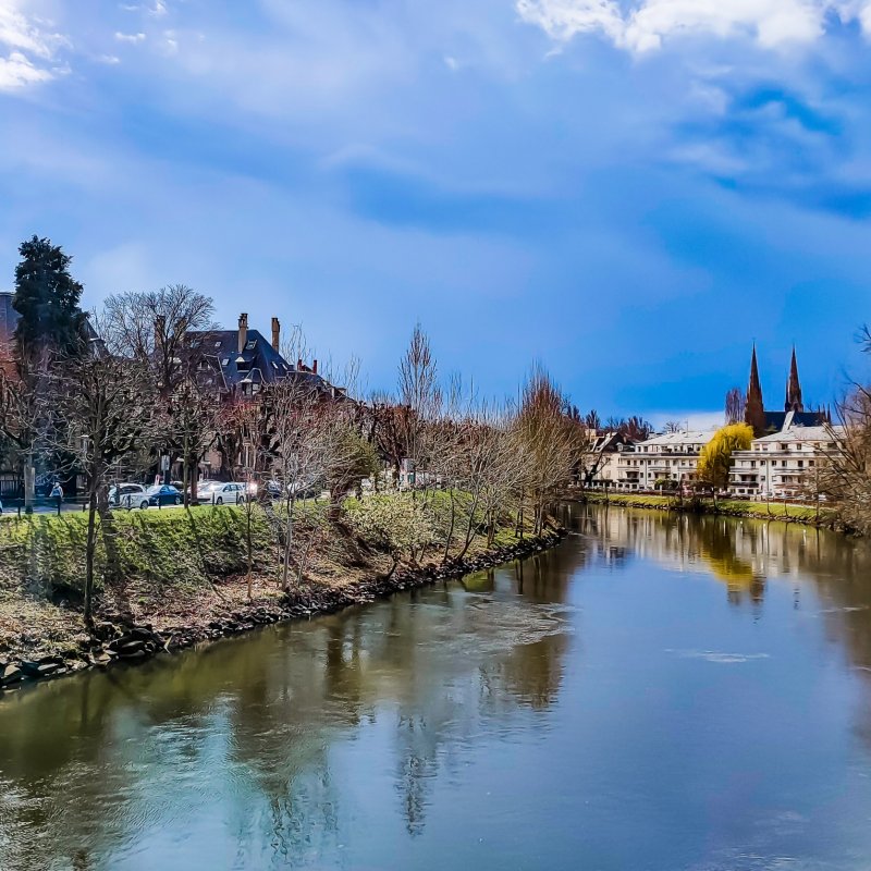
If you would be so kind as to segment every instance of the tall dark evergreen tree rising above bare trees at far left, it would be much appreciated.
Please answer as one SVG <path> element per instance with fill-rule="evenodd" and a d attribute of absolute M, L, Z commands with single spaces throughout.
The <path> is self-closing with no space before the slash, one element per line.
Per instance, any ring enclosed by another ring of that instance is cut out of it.
<path fill-rule="evenodd" d="M 78 307 L 82 284 L 70 274 L 72 258 L 50 240 L 34 236 L 19 248 L 15 296 L 21 316 L 15 328 L 19 356 L 36 357 L 51 349 L 75 354 L 84 335 L 85 316 Z"/>

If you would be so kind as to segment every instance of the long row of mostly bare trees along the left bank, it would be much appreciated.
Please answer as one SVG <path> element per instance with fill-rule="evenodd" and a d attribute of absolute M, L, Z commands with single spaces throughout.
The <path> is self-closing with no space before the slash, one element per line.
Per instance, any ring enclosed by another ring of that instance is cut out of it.
<path fill-rule="evenodd" d="M 208 297 L 183 285 L 124 293 L 86 317 L 70 258 L 36 237 L 20 250 L 21 319 L 0 375 L 0 432 L 28 506 L 37 470 L 84 481 L 87 623 L 99 536 L 112 532 L 109 487 L 154 479 L 162 458 L 181 465 L 187 505 L 206 453 L 222 456 L 224 475 L 247 486 L 249 585 L 250 530 L 265 517 L 287 589 L 305 574 L 320 523 L 380 542 L 394 567 L 427 549 L 465 555 L 510 523 L 540 533 L 590 447 L 588 428 L 542 368 L 517 401 L 484 401 L 459 378 L 442 381 L 420 327 L 392 394 L 336 398 L 318 379 L 293 375 L 256 396 L 236 394 L 207 360 L 217 329 Z M 366 480 L 375 492 L 363 498 Z M 306 498 L 323 491 L 326 504 L 309 511 Z"/>

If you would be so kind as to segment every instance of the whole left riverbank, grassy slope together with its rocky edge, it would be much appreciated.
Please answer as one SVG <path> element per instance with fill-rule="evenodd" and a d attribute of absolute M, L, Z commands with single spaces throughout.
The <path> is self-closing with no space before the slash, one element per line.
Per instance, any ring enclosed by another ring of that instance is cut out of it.
<path fill-rule="evenodd" d="M 401 590 L 462 577 L 556 543 L 518 536 L 511 518 L 492 547 L 476 538 L 465 555 L 443 560 L 443 545 L 417 560 L 389 554 L 380 542 L 330 524 L 326 508 L 300 522 L 305 577 L 280 588 L 268 517 L 221 506 L 191 512 L 132 512 L 101 537 L 101 572 L 123 580 L 97 596 L 94 637 L 84 631 L 77 585 L 84 560 L 84 518 L 32 517 L 0 527 L 0 691 L 237 635 L 285 619 L 309 618 L 365 604 Z M 308 524 L 308 525 L 306 525 Z M 247 575 L 250 537 L 254 572 Z M 307 537 L 307 539 L 306 539 Z M 465 542 L 457 541 L 457 554 Z"/>

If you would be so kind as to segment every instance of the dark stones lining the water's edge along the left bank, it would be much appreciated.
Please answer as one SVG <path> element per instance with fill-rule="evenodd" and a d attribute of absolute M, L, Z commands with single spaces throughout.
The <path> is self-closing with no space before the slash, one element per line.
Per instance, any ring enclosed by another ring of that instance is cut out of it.
<path fill-rule="evenodd" d="M 0 653 L 0 694 L 35 680 L 54 679 L 86 668 L 108 668 L 116 664 L 144 662 L 161 652 L 172 653 L 201 642 L 238 635 L 258 626 L 310 618 L 351 605 L 367 604 L 395 592 L 459 578 L 471 572 L 530 556 L 553 547 L 564 536 L 565 530 L 560 529 L 541 538 L 519 541 L 474 557 L 455 559 L 419 568 L 403 568 L 391 577 L 371 577 L 344 587 L 306 587 L 268 604 L 255 602 L 249 606 L 237 608 L 224 618 L 206 625 L 175 626 L 157 633 L 150 625 L 130 626 L 123 622 L 103 621 L 95 627 L 93 638 L 59 654 L 30 661 L 16 657 L 3 659 Z M 77 615 L 75 618 L 78 618 Z"/>

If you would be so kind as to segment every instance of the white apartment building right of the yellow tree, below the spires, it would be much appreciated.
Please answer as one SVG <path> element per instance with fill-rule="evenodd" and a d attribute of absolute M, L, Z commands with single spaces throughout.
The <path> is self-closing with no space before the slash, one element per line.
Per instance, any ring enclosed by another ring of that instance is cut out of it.
<path fill-rule="evenodd" d="M 729 492 L 739 496 L 795 499 L 815 492 L 827 457 L 841 450 L 844 428 L 802 427 L 786 416 L 780 432 L 753 439 L 732 456 Z"/>

